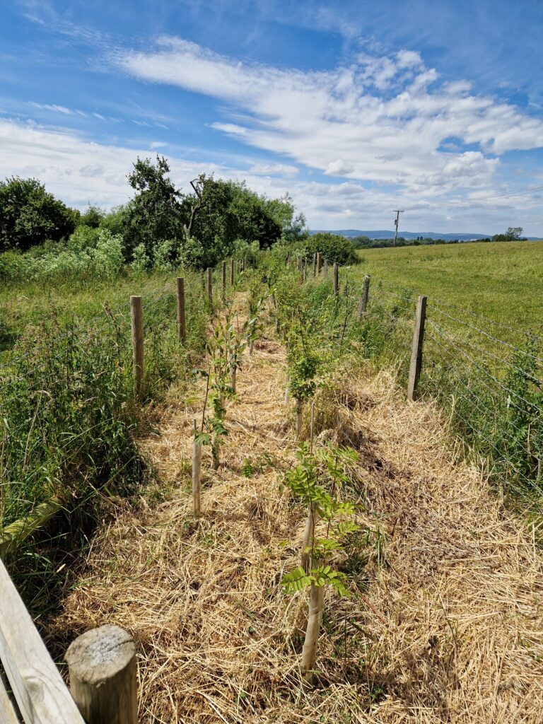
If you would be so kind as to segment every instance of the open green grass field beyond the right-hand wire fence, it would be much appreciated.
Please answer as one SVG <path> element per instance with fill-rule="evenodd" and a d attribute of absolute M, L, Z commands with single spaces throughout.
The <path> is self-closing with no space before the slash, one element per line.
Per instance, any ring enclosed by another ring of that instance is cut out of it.
<path fill-rule="evenodd" d="M 368 249 L 356 275 L 371 274 L 522 329 L 543 332 L 543 241 Z"/>

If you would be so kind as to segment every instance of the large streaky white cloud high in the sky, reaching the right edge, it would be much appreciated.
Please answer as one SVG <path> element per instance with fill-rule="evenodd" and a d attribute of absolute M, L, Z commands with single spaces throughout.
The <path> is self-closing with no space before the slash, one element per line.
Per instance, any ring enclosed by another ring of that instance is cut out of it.
<path fill-rule="evenodd" d="M 542 121 L 474 94 L 465 80 L 439 82 L 413 51 L 359 54 L 334 70 L 300 71 L 239 62 L 166 37 L 156 50 L 114 60 L 135 77 L 248 111 L 248 122 L 211 125 L 329 175 L 439 193 L 488 186 L 500 163 L 492 156 L 543 146 Z M 480 151 L 445 152 L 441 143 L 451 136 Z"/>

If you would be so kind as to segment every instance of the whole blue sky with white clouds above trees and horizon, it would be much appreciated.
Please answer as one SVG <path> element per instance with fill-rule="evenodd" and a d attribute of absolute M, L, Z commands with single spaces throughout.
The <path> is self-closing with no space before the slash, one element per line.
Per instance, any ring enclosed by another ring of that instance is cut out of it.
<path fill-rule="evenodd" d="M 161 153 L 312 228 L 543 234 L 540 0 L 0 8 L 0 177 L 109 208 Z"/>

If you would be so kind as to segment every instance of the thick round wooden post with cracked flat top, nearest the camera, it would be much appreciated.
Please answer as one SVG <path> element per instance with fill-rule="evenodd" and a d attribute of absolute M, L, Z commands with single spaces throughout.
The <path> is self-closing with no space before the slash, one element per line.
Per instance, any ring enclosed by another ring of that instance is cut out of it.
<path fill-rule="evenodd" d="M 70 693 L 87 724 L 137 724 L 135 644 L 119 626 L 78 636 L 66 652 Z"/>

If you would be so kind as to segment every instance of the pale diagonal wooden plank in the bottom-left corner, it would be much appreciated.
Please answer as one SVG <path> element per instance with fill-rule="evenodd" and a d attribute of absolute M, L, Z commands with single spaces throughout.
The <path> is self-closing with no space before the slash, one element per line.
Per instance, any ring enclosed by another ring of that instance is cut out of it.
<path fill-rule="evenodd" d="M 0 601 L 0 659 L 25 723 L 84 724 L 1 560 Z"/>

